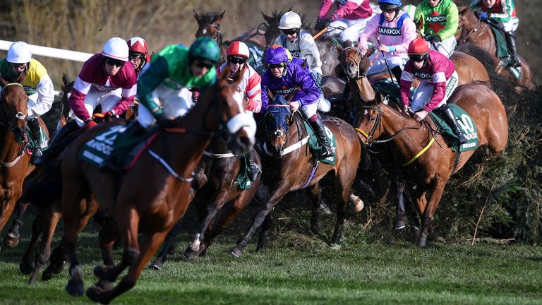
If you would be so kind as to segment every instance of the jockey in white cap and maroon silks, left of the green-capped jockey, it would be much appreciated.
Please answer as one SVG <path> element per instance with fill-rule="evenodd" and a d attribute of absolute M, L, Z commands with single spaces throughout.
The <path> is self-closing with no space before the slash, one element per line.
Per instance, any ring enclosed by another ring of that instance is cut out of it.
<path fill-rule="evenodd" d="M 86 129 L 96 126 L 92 112 L 102 105 L 102 112 L 113 116 L 123 114 L 133 103 L 137 91 L 137 76 L 128 61 L 128 44 L 113 37 L 104 44 L 102 53 L 85 61 L 73 84 L 68 104 L 74 121 Z"/>

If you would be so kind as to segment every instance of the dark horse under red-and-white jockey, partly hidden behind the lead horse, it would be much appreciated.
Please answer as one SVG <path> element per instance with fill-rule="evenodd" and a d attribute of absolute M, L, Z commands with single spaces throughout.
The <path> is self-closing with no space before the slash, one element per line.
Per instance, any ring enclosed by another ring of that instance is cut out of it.
<path fill-rule="evenodd" d="M 261 168 L 260 157 L 253 151 L 254 162 Z M 251 182 L 248 188 L 239 188 L 236 178 L 241 172 L 241 157 L 231 153 L 220 140 L 213 139 L 209 148 L 203 152 L 203 159 L 196 169 L 193 188 L 194 202 L 198 217 L 202 222 L 193 243 L 186 248 L 184 256 L 190 261 L 198 256 L 204 256 L 215 237 L 224 232 L 234 218 L 246 208 L 255 196 L 260 186 L 260 176 Z M 222 210 L 227 203 L 227 209 Z M 222 211 L 217 223 L 214 223 L 217 213 Z M 152 269 L 162 269 L 167 259 L 174 237 L 178 234 L 181 224 L 175 225 L 169 232 L 162 251 L 157 259 L 150 264 Z"/>

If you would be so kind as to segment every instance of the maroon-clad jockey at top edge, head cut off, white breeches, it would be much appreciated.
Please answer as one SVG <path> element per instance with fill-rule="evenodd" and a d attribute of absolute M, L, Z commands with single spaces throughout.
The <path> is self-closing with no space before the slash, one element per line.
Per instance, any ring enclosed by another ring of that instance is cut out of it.
<path fill-rule="evenodd" d="M 326 18 L 333 2 L 337 2 L 338 9 Z M 369 0 L 323 0 L 314 28 L 320 31 L 327 26 L 332 27 L 329 35 L 339 35 L 342 45 L 350 47 L 372 15 L 373 8 Z"/>

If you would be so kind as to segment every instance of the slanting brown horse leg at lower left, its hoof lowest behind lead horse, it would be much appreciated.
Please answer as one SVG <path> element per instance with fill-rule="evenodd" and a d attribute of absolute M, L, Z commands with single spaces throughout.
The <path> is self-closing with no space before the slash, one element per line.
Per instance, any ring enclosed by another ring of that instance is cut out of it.
<path fill-rule="evenodd" d="M 36 253 L 34 270 L 32 272 L 32 276 L 30 276 L 30 280 L 28 280 L 29 285 L 36 282 L 37 275 L 40 274 L 42 267 L 47 264 L 47 261 L 49 261 L 49 257 L 51 256 L 51 242 L 56 225 L 59 223 L 61 217 L 62 214 L 56 210 L 52 210 L 44 215 L 44 221 L 42 224 L 42 243 L 40 245 L 40 251 Z M 43 280 L 49 280 L 50 278 L 50 276 L 47 277 L 47 275 L 44 273 Z"/>

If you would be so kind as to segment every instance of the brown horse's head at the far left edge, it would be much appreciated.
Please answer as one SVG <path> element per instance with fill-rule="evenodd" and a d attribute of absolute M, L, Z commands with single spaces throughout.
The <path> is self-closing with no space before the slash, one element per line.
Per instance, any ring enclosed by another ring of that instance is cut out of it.
<path fill-rule="evenodd" d="M 25 143 L 28 95 L 20 83 L 9 83 L 0 78 L 0 85 L 0 126 L 13 132 L 17 143 Z"/>

